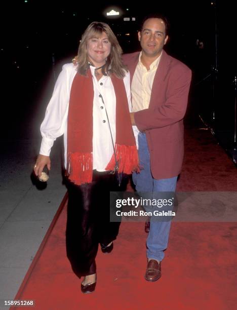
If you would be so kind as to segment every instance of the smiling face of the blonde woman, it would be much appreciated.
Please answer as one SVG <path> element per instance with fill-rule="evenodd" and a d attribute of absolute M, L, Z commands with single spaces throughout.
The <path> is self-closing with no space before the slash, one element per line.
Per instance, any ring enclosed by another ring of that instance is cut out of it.
<path fill-rule="evenodd" d="M 108 41 L 107 34 L 101 33 L 101 36 L 95 35 L 87 42 L 87 55 L 97 68 L 105 64 L 111 50 L 111 43 Z"/>

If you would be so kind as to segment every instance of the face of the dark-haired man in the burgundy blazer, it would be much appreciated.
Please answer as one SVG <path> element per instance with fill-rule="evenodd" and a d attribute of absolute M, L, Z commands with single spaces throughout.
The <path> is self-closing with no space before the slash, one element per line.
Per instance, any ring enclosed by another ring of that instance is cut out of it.
<path fill-rule="evenodd" d="M 149 18 L 145 21 L 142 30 L 138 32 L 142 52 L 148 57 L 160 56 L 168 40 L 165 23 L 160 18 Z"/>

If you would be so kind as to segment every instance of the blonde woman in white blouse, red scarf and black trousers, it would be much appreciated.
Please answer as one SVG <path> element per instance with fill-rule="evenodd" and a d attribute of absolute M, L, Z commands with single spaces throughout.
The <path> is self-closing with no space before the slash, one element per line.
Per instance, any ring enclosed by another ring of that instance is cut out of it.
<path fill-rule="evenodd" d="M 50 149 L 64 134 L 69 181 L 66 249 L 73 272 L 84 276 L 83 293 L 95 290 L 98 244 L 102 252 L 111 252 L 119 232 L 120 223 L 109 222 L 109 191 L 124 189 L 117 176 L 138 166 L 129 115 L 130 76 L 121 54 L 107 24 L 87 27 L 76 61 L 63 66 L 56 82 L 34 166 L 36 176 L 45 165 L 50 169 Z"/>

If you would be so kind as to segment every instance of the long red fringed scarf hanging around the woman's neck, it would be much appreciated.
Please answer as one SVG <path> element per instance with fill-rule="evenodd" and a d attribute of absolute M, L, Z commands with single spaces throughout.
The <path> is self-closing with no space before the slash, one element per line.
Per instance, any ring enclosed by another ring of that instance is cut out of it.
<path fill-rule="evenodd" d="M 112 74 L 111 80 L 116 94 L 116 159 L 119 172 L 130 174 L 139 169 L 127 94 L 122 79 Z M 88 77 L 76 73 L 71 86 L 67 119 L 67 174 L 77 185 L 92 182 L 93 99 L 91 71 L 88 70 Z M 113 170 L 114 165 L 113 154 L 105 170 Z"/>

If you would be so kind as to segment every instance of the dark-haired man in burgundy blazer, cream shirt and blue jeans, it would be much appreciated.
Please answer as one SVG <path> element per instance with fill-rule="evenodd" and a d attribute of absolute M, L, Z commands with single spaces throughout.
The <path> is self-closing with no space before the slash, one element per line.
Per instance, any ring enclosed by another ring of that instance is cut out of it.
<path fill-rule="evenodd" d="M 175 191 L 181 171 L 183 117 L 186 111 L 191 70 L 164 50 L 168 22 L 161 15 L 143 21 L 138 40 L 141 52 L 124 55 L 131 75 L 132 125 L 138 129 L 139 174 L 133 174 L 137 191 Z M 136 134 L 135 134 L 136 135 Z M 167 248 L 170 221 L 150 220 L 145 279 L 161 277 L 161 261 Z"/>

